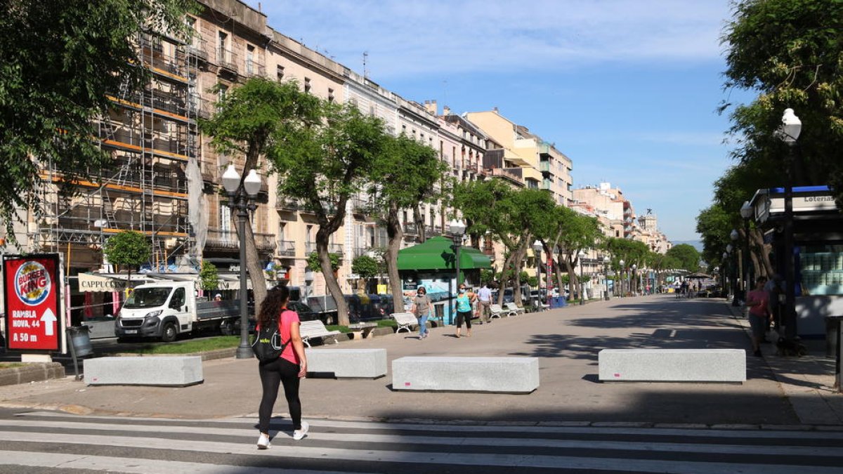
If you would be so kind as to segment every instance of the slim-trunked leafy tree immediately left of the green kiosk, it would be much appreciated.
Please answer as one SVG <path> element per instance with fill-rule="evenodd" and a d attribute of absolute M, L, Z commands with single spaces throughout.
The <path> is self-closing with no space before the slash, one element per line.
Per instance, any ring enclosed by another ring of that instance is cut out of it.
<path fill-rule="evenodd" d="M 403 134 L 386 137 L 385 141 L 384 153 L 379 155 L 372 170 L 371 182 L 376 184 L 369 189 L 369 195 L 376 202 L 376 208 L 384 209 L 389 238 L 384 252 L 386 272 L 392 283 L 393 301 L 401 301 L 404 295 L 398 275 L 398 250 L 404 238 L 404 229 L 401 227 L 400 211 L 412 207 L 416 216 L 421 218 L 419 204 L 435 202 L 440 197 L 441 187 L 436 185 L 447 166 L 438 159 L 436 150 Z"/>

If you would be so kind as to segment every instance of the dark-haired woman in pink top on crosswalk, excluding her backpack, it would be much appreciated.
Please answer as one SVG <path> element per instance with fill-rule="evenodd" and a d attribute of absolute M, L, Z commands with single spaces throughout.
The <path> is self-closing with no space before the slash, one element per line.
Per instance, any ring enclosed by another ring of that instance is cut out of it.
<path fill-rule="evenodd" d="M 293 439 L 303 439 L 308 434 L 309 425 L 302 421 L 302 403 L 298 400 L 299 380 L 307 374 L 308 361 L 304 357 L 304 344 L 298 332 L 298 313 L 287 310 L 289 300 L 290 290 L 279 286 L 268 291 L 263 304 L 260 304 L 257 328 L 277 320 L 281 341 L 285 346 L 281 357 L 258 365 L 260 384 L 263 386 L 263 396 L 258 409 L 259 450 L 266 450 L 271 445 L 269 421 L 280 384 L 284 385 L 284 396 L 287 398 L 287 407 L 293 420 Z"/>

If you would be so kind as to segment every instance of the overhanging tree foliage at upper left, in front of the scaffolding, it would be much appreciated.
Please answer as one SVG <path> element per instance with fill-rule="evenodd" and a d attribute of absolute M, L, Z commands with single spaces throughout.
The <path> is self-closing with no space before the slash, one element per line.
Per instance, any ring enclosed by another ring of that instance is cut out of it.
<path fill-rule="evenodd" d="M 99 0 L 0 3 L 0 221 L 14 239 L 17 207 L 43 213 L 40 171 L 51 164 L 63 191 L 108 163 L 95 140 L 123 85 L 130 92 L 150 77 L 132 44 L 143 31 L 184 36 L 192 0 Z M 89 178 L 88 178 L 89 179 Z"/>

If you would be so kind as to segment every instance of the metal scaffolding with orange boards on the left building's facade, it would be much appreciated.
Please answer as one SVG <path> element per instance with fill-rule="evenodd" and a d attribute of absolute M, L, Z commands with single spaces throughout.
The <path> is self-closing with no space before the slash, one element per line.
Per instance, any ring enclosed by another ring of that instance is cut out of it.
<path fill-rule="evenodd" d="M 151 239 L 151 266 L 161 269 L 191 248 L 185 168 L 196 159 L 197 55 L 191 46 L 155 33 L 132 41 L 151 79 L 142 91 L 126 85 L 107 97 L 113 105 L 97 120 L 99 147 L 110 166 L 75 180 L 73 196 L 49 164 L 46 215 L 36 224 L 40 250 L 80 245 L 98 252 L 110 234 L 136 230 Z M 66 262 L 68 267 L 72 262 Z"/>

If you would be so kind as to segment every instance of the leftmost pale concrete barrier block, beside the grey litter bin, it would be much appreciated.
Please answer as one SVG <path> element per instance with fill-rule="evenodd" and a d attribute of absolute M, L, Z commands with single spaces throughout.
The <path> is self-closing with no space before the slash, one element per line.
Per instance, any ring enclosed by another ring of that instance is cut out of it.
<path fill-rule="evenodd" d="M 84 361 L 87 385 L 185 386 L 202 382 L 202 358 L 104 357 Z"/>

